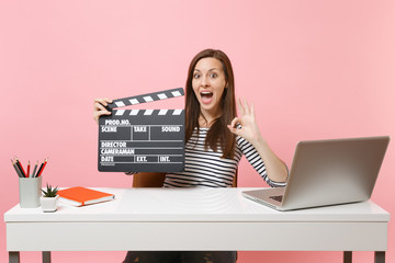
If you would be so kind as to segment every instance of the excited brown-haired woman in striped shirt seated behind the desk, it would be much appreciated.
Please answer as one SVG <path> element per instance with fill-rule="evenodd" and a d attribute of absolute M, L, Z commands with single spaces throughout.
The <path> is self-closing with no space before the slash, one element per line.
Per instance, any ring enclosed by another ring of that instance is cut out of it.
<path fill-rule="evenodd" d="M 287 168 L 261 136 L 252 104 L 239 100 L 229 58 L 205 49 L 191 61 L 185 85 L 185 168 L 167 173 L 165 187 L 229 187 L 237 165 L 247 160 L 271 186 L 284 186 Z M 94 100 L 93 117 L 110 115 L 109 99 Z M 103 106 L 104 105 L 104 106 Z M 128 252 L 125 262 L 235 262 L 236 252 Z"/>

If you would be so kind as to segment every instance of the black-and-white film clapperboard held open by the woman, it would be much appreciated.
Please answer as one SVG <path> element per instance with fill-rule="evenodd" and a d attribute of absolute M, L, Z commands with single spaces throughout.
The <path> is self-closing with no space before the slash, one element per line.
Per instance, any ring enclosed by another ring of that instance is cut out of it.
<path fill-rule="evenodd" d="M 120 110 L 184 94 L 182 88 L 117 99 L 99 118 L 99 171 L 179 172 L 184 169 L 184 110 Z M 114 110 L 113 110 L 114 108 Z"/>

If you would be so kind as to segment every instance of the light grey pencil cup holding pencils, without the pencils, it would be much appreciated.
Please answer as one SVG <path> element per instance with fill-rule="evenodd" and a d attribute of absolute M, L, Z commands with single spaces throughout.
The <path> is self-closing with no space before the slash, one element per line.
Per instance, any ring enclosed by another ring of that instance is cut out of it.
<path fill-rule="evenodd" d="M 40 206 L 42 178 L 20 178 L 20 206 L 21 208 L 35 208 Z"/>

